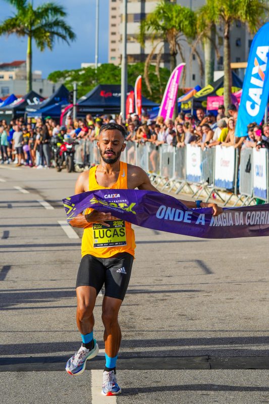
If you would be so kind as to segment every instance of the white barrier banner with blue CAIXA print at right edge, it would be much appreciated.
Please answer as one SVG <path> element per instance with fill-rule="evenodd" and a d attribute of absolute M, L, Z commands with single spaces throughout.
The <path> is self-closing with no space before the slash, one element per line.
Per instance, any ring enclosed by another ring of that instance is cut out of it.
<path fill-rule="evenodd" d="M 252 151 L 253 153 L 253 195 L 258 198 L 267 199 L 267 175 L 266 175 L 266 149 L 260 148 Z"/>

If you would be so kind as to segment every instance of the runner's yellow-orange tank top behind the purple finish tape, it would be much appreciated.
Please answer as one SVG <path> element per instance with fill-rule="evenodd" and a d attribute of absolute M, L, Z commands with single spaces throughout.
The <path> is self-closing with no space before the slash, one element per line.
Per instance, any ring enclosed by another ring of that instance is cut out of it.
<path fill-rule="evenodd" d="M 89 170 L 89 191 L 97 189 L 127 189 L 127 163 L 120 162 L 120 174 L 117 182 L 110 188 L 101 186 L 96 181 L 97 166 Z M 89 214 L 93 209 L 88 208 L 85 214 Z M 84 229 L 81 255 L 84 257 L 90 254 L 99 258 L 110 258 L 119 252 L 129 252 L 134 256 L 135 237 L 131 223 L 124 220 L 109 221 L 110 227 L 99 223 L 93 223 Z"/>

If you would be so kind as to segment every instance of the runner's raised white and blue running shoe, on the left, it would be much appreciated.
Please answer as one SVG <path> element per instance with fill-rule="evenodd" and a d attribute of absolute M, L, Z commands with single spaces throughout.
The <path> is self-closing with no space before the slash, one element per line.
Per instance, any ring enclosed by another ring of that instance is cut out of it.
<path fill-rule="evenodd" d="M 96 357 L 96 355 L 99 352 L 96 340 L 94 339 L 93 341 L 94 346 L 91 350 L 81 345 L 76 354 L 69 359 L 69 361 L 66 364 L 67 373 L 73 376 L 77 376 L 80 375 L 82 372 L 84 372 L 87 359 L 92 359 Z"/>

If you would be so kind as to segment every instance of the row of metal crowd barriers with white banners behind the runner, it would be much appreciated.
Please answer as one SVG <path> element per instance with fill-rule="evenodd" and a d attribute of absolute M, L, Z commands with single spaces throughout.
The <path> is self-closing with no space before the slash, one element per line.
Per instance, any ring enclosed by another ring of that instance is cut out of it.
<path fill-rule="evenodd" d="M 258 154 L 259 153 L 259 154 Z M 143 168 L 152 183 L 161 190 L 176 193 L 185 187 L 196 198 L 204 191 L 206 201 L 217 194 L 227 205 L 236 196 L 235 205 L 247 206 L 254 199 L 269 201 L 268 150 L 244 148 L 239 156 L 238 148 L 216 146 L 201 150 L 187 145 L 173 147 L 156 146 L 151 142 L 127 141 L 121 159 Z M 76 149 L 77 162 L 99 164 L 99 151 L 95 141 L 83 140 Z M 86 159 L 86 160 L 85 160 Z M 240 165 L 239 165 L 240 163 Z M 193 186 L 196 190 L 193 190 Z M 220 191 L 230 192 L 225 201 Z"/>

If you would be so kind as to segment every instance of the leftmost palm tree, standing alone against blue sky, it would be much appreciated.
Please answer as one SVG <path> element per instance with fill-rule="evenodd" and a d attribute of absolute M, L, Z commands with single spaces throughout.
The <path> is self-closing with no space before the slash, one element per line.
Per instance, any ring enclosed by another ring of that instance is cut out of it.
<path fill-rule="evenodd" d="M 27 92 L 32 89 L 32 40 L 43 52 L 46 47 L 52 51 L 56 38 L 61 38 L 69 44 L 76 35 L 65 22 L 65 9 L 56 3 L 44 3 L 33 8 L 32 2 L 27 0 L 5 0 L 16 8 L 16 14 L 0 25 L 0 35 L 17 34 L 27 36 Z"/>

